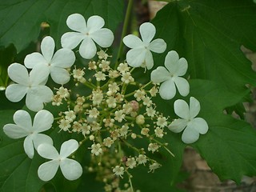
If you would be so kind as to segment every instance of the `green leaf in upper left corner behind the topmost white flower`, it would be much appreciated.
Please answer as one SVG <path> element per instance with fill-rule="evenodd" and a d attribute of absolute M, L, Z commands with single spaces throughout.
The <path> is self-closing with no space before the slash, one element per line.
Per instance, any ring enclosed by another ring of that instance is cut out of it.
<path fill-rule="evenodd" d="M 111 0 L 11 0 L 0 2 L 0 46 L 13 43 L 18 53 L 38 38 L 42 22 L 50 24 L 50 34 L 58 46 L 60 38 L 69 29 L 66 18 L 79 13 L 89 18 L 98 14 L 105 19 L 106 27 L 115 31 L 122 21 L 123 1 Z"/>

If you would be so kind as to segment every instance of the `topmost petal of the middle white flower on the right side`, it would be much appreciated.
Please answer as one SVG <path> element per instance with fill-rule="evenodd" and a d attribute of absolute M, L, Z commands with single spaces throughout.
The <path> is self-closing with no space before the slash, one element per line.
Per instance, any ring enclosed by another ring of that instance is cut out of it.
<path fill-rule="evenodd" d="M 171 50 L 166 54 L 165 66 L 170 74 L 175 74 L 178 69 L 178 54 L 175 50 Z"/>

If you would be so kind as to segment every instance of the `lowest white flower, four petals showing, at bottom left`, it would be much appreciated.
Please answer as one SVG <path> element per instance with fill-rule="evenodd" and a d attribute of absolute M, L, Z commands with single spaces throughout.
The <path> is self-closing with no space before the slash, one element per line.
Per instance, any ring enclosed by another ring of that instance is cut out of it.
<path fill-rule="evenodd" d="M 43 158 L 51 159 L 51 161 L 42 163 L 39 166 L 38 177 L 44 182 L 50 181 L 50 179 L 54 178 L 58 166 L 60 166 L 66 179 L 73 181 L 79 178 L 82 175 L 82 166 L 74 159 L 67 158 L 77 149 L 78 142 L 74 139 L 63 142 L 59 154 L 54 146 L 47 143 L 38 146 L 38 154 Z"/>

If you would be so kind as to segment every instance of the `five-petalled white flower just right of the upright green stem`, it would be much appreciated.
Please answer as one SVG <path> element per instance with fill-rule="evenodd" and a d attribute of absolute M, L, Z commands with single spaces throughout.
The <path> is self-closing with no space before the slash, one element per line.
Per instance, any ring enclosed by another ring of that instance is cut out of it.
<path fill-rule="evenodd" d="M 155 27 L 150 22 L 144 22 L 139 27 L 142 40 L 134 34 L 128 34 L 122 39 L 124 44 L 131 48 L 126 54 L 126 61 L 129 66 L 142 66 L 150 70 L 154 66 L 151 51 L 161 54 L 166 50 L 166 42 L 161 38 L 152 39 L 155 35 Z"/>

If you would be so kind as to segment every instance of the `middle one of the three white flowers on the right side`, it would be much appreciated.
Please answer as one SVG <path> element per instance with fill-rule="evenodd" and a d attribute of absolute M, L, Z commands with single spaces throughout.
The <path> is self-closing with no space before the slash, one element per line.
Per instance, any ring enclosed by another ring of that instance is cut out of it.
<path fill-rule="evenodd" d="M 154 83 L 163 82 L 159 89 L 159 94 L 163 99 L 174 98 L 176 87 L 182 96 L 186 96 L 190 92 L 190 85 L 185 78 L 181 78 L 186 74 L 187 62 L 185 58 L 179 58 L 176 51 L 171 50 L 166 55 L 165 67 L 158 66 L 151 73 L 151 81 Z"/>

